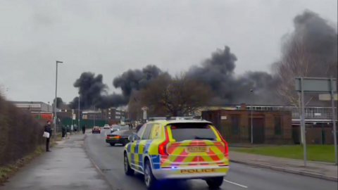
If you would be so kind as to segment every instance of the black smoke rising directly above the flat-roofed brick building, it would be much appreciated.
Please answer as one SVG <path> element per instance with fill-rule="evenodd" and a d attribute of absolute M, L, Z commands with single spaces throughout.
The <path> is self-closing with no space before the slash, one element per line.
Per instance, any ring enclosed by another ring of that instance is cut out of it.
<path fill-rule="evenodd" d="M 213 89 L 216 95 L 213 104 L 258 103 L 259 100 L 264 104 L 277 103 L 270 97 L 270 90 L 277 82 L 274 77 L 268 72 L 252 71 L 236 76 L 236 61 L 237 57 L 230 52 L 230 47 L 225 46 L 225 49 L 212 53 L 201 66 L 190 68 L 187 76 Z"/>

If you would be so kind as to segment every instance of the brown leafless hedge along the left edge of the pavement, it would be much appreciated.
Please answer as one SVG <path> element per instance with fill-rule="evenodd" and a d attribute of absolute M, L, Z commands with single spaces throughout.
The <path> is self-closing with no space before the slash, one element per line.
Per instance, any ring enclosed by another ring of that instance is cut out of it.
<path fill-rule="evenodd" d="M 44 123 L 0 96 L 0 167 L 33 153 L 44 144 Z"/>

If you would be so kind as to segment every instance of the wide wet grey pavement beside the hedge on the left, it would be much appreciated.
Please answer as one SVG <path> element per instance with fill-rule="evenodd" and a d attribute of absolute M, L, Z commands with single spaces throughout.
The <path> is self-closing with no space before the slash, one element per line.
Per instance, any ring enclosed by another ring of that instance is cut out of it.
<path fill-rule="evenodd" d="M 87 134 L 86 134 L 87 135 Z M 111 186 L 83 148 L 84 134 L 58 141 L 9 179 L 1 190 L 107 190 Z"/>

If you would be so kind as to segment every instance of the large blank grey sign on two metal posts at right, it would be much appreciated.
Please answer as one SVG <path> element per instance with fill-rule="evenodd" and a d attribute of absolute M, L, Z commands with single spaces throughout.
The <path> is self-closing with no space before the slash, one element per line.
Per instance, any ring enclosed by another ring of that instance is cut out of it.
<path fill-rule="evenodd" d="M 334 157 L 335 163 L 338 164 L 337 158 L 337 130 L 336 130 L 336 113 L 334 110 L 334 93 L 337 92 L 337 80 L 334 78 L 313 78 L 313 77 L 296 77 L 294 81 L 296 91 L 301 92 L 301 137 L 303 143 L 304 166 L 306 166 L 306 129 L 305 129 L 305 101 L 304 93 L 330 93 L 332 104 L 332 123 L 334 136 Z"/>

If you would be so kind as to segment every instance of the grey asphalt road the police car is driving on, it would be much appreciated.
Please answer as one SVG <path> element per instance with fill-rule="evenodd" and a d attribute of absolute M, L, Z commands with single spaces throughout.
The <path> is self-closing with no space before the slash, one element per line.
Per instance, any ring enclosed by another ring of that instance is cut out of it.
<path fill-rule="evenodd" d="M 103 133 L 101 134 L 89 134 L 84 141 L 84 146 L 87 148 L 87 152 L 94 160 L 94 163 L 115 189 L 146 190 L 146 186 L 142 181 L 142 175 L 135 175 L 134 177 L 125 176 L 123 170 L 123 146 L 110 146 L 106 144 L 105 132 L 109 132 L 109 130 L 102 130 Z M 173 189 L 173 185 L 164 184 L 164 186 L 170 187 L 168 189 Z M 206 190 L 208 186 L 203 180 L 194 179 L 182 182 L 181 184 L 175 184 L 175 189 Z M 230 163 L 230 171 L 227 177 L 225 177 L 225 182 L 221 189 L 334 190 L 337 189 L 337 182 Z"/>

